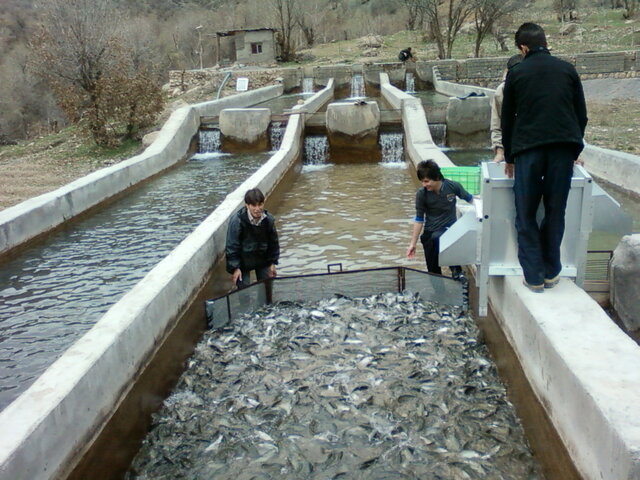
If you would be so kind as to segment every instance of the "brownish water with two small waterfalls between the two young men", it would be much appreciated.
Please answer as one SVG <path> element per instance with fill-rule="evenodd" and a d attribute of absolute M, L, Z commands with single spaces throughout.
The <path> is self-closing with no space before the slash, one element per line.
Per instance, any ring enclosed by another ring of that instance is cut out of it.
<path fill-rule="evenodd" d="M 422 257 L 405 258 L 417 183 L 402 135 L 382 133 L 379 144 L 380 163 L 333 164 L 326 137 L 307 136 L 302 172 L 273 211 L 283 275 L 325 272 L 330 263 L 424 269 Z"/>

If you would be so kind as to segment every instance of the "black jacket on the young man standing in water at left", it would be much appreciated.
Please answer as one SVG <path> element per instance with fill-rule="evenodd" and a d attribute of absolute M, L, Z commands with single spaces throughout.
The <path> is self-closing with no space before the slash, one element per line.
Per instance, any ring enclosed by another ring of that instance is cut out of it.
<path fill-rule="evenodd" d="M 231 217 L 227 230 L 227 272 L 236 268 L 255 270 L 277 265 L 280 258 L 280 244 L 273 215 L 265 210 L 260 225 L 249 222 L 247 207 L 242 207 Z"/>

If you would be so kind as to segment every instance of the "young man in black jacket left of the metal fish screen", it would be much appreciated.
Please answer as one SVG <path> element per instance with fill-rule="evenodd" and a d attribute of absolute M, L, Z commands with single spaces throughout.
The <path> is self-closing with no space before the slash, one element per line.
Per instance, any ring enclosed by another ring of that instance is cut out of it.
<path fill-rule="evenodd" d="M 251 270 L 258 280 L 275 277 L 280 258 L 275 219 L 264 209 L 264 194 L 257 188 L 248 190 L 244 203 L 229 221 L 225 249 L 227 272 L 239 287 L 251 283 Z"/>

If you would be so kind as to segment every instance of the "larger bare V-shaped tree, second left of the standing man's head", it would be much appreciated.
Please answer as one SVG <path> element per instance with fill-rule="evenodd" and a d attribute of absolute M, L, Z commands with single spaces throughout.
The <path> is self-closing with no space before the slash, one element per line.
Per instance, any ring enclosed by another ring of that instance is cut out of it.
<path fill-rule="evenodd" d="M 434 36 L 438 57 L 451 58 L 456 36 L 473 13 L 475 0 L 419 0 L 420 9 Z"/>

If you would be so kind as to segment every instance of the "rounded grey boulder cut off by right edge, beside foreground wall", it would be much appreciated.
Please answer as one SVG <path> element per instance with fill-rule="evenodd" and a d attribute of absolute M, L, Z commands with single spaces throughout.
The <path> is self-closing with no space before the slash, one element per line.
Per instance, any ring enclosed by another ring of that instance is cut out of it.
<path fill-rule="evenodd" d="M 640 329 L 640 234 L 622 237 L 609 268 L 613 308 L 628 330 Z"/>

